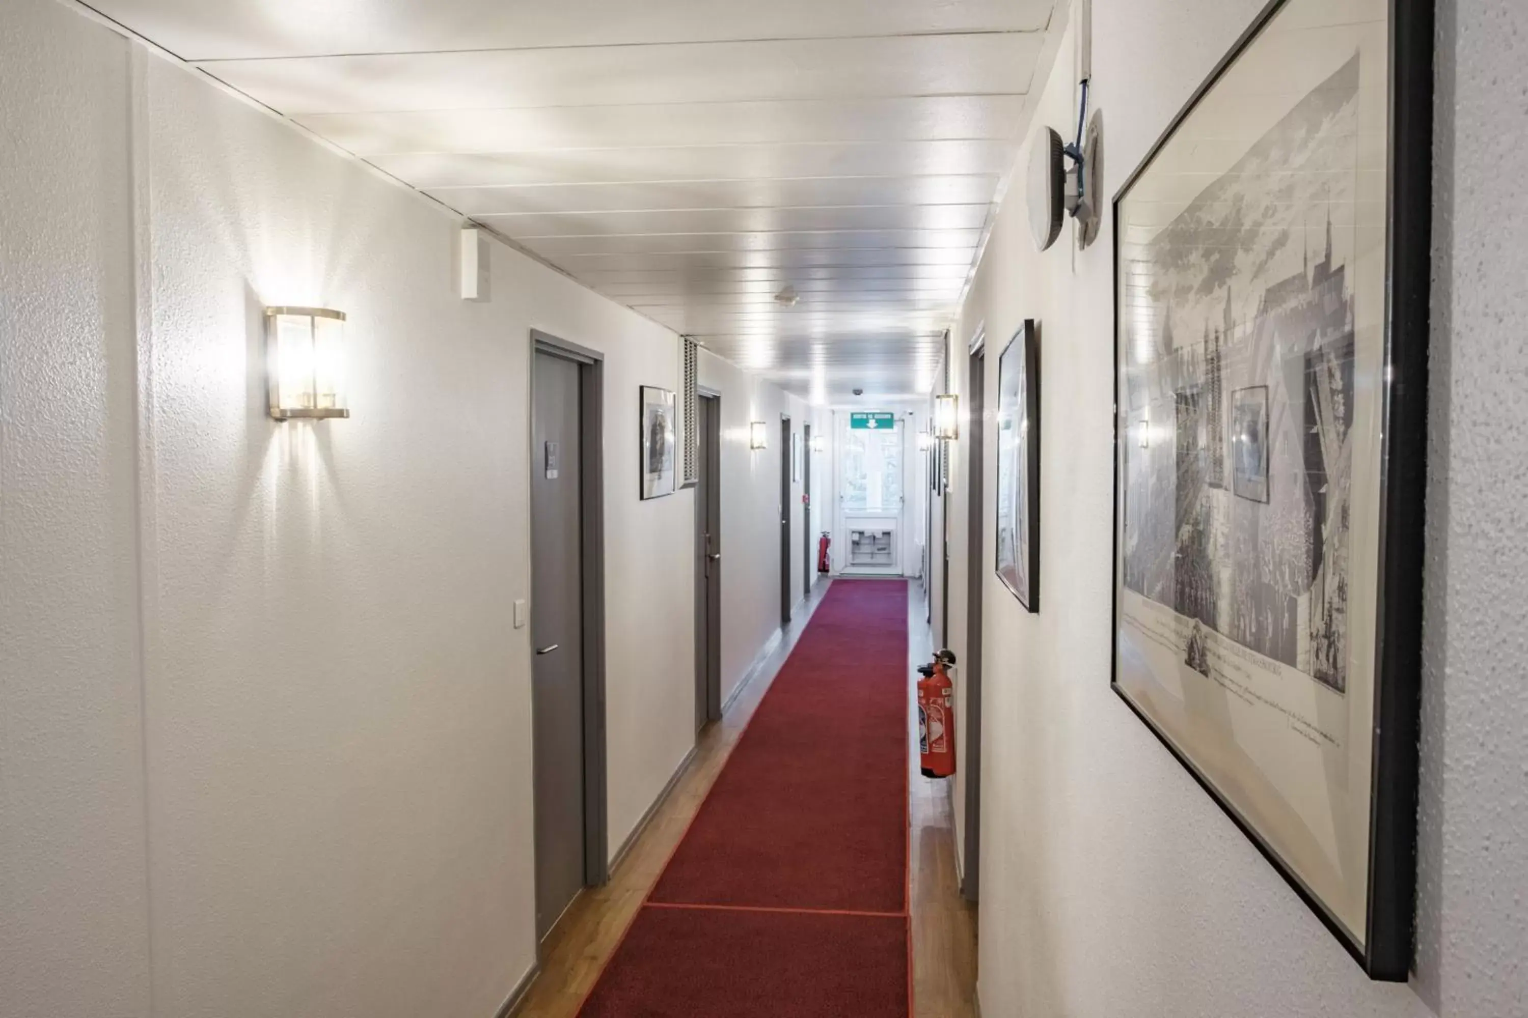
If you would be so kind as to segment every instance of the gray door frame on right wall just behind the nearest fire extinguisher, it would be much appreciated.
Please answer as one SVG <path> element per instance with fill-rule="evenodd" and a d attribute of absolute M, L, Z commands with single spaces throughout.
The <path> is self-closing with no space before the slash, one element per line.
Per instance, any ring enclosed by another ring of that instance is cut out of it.
<path fill-rule="evenodd" d="M 966 374 L 970 409 L 966 423 L 966 838 L 961 853 L 960 893 L 976 900 L 981 885 L 981 641 L 983 594 L 987 583 L 987 333 L 978 330 L 970 342 Z"/>

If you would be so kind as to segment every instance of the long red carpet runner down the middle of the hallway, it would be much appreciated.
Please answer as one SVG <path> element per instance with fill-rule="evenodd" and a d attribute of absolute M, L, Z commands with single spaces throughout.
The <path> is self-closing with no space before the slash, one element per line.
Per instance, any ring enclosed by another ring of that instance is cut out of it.
<path fill-rule="evenodd" d="M 908 586 L 828 588 L 579 1012 L 906 1018 Z"/>

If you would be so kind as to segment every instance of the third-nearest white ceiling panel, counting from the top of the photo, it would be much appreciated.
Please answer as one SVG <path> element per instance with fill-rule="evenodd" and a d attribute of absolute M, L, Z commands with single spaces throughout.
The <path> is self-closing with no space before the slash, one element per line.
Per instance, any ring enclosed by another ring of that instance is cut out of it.
<path fill-rule="evenodd" d="M 1012 137 L 1022 110 L 1024 96 L 998 95 L 310 113 L 295 119 L 341 148 L 374 156 Z"/>

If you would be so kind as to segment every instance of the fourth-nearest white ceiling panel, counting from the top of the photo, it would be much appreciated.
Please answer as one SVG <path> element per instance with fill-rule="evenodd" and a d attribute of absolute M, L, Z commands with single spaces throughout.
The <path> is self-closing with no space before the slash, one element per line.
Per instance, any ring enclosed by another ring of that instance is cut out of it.
<path fill-rule="evenodd" d="M 879 142 L 871 145 L 718 145 L 601 148 L 518 154 L 405 153 L 374 156 L 417 188 L 778 177 L 914 177 L 978 172 L 996 179 L 1018 142 Z M 990 195 L 989 195 L 990 198 Z M 446 198 L 449 205 L 449 198 Z"/>

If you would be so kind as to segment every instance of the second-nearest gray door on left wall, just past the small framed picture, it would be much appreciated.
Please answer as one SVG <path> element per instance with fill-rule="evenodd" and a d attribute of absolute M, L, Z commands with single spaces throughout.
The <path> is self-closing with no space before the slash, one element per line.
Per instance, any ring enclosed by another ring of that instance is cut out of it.
<path fill-rule="evenodd" d="M 695 400 L 695 731 L 721 720 L 721 415 Z"/>

